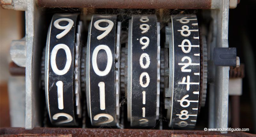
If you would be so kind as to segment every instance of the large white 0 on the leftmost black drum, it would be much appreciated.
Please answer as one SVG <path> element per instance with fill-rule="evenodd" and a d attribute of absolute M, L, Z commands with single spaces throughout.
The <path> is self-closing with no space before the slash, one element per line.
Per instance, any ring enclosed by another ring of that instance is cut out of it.
<path fill-rule="evenodd" d="M 67 57 L 66 65 L 65 65 L 63 70 L 59 70 L 57 68 L 57 65 L 56 65 L 56 54 L 59 51 L 59 49 L 64 49 L 64 51 L 66 53 L 66 57 Z M 52 66 L 52 71 L 55 74 L 57 74 L 57 75 L 64 75 L 64 74 L 66 74 L 68 72 L 69 68 L 70 68 L 71 61 L 72 61 L 71 52 L 70 52 L 70 50 L 69 50 L 67 45 L 65 45 L 65 44 L 58 44 L 58 45 L 56 45 L 52 49 L 52 53 L 51 53 L 51 66 Z"/>

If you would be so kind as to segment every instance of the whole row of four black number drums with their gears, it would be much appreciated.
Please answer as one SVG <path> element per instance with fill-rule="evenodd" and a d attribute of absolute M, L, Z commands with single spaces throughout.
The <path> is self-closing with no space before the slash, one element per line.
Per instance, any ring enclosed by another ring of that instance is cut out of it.
<path fill-rule="evenodd" d="M 45 126 L 195 127 L 206 40 L 195 14 L 168 17 L 54 14 L 42 57 Z"/>

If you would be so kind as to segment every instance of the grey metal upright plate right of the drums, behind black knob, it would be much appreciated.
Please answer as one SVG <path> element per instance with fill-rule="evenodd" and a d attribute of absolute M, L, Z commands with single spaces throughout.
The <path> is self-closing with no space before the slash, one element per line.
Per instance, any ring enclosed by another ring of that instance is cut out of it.
<path fill-rule="evenodd" d="M 213 35 L 212 43 L 208 41 L 208 45 L 213 51 L 214 47 L 228 47 L 228 0 L 216 0 L 215 10 L 211 10 L 213 18 Z M 211 54 L 208 65 L 211 70 L 211 76 L 215 79 L 210 81 L 209 93 L 209 128 L 227 128 L 228 127 L 228 80 L 229 66 L 214 66 L 213 52 Z M 210 71 L 208 71 L 210 72 Z M 221 133 L 227 133 L 222 131 Z"/>

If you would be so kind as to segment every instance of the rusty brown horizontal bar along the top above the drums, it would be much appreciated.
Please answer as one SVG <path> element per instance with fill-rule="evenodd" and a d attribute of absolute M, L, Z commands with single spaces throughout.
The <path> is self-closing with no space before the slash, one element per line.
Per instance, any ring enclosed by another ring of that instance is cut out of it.
<path fill-rule="evenodd" d="M 37 0 L 40 7 L 117 9 L 211 9 L 212 0 Z"/>

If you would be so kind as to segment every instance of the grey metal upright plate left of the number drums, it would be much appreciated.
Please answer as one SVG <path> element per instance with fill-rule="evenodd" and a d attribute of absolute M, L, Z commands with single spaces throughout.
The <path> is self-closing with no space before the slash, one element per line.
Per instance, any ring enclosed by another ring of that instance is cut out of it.
<path fill-rule="evenodd" d="M 26 117 L 25 128 L 33 129 L 41 125 L 40 119 L 40 92 L 39 92 L 39 80 L 40 80 L 40 60 L 42 53 L 41 37 L 40 37 L 40 25 L 43 25 L 41 20 L 41 12 L 36 7 L 34 0 L 27 0 L 26 16 Z"/>

